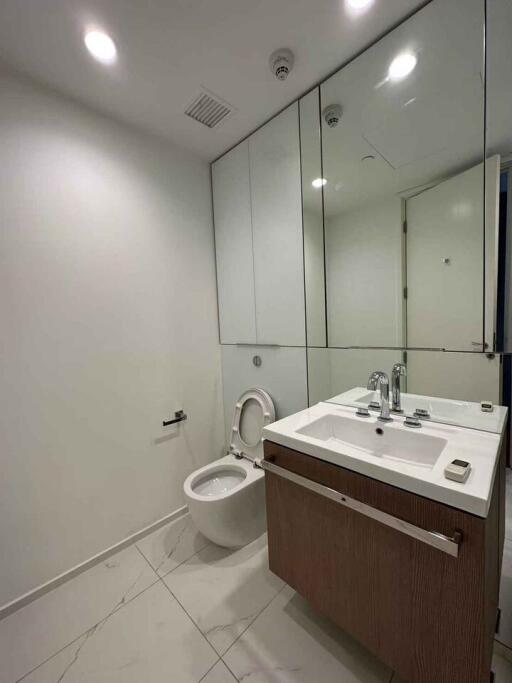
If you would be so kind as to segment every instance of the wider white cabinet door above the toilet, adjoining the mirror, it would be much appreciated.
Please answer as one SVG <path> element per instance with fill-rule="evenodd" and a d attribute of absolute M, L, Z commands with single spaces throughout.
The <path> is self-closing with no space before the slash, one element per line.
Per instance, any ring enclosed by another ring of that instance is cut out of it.
<path fill-rule="evenodd" d="M 297 103 L 249 139 L 257 339 L 305 344 Z"/>

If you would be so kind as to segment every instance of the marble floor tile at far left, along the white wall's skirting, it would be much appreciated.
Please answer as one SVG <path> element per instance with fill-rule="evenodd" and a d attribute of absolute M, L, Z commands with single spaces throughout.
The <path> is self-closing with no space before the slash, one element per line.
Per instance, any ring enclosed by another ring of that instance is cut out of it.
<path fill-rule="evenodd" d="M 131 546 L 0 621 L 0 683 L 13 683 L 158 580 Z"/>

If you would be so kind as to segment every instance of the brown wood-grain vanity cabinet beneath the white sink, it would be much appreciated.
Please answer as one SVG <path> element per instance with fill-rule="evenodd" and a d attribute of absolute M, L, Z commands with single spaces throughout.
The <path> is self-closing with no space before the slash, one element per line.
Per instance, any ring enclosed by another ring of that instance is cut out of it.
<path fill-rule="evenodd" d="M 268 440 L 263 465 L 275 574 L 405 681 L 489 683 L 503 451 L 485 518 Z"/>

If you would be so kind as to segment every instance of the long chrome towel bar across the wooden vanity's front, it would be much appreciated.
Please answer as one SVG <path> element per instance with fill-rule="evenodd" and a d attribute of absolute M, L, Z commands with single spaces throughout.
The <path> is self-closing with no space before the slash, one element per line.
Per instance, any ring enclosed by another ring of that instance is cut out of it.
<path fill-rule="evenodd" d="M 269 460 L 261 460 L 258 464 L 267 472 L 271 472 L 272 474 L 276 474 L 277 476 L 287 479 L 294 484 L 303 486 L 314 493 L 318 493 L 325 498 L 333 500 L 335 503 L 339 503 L 340 505 L 350 508 L 355 512 L 359 512 L 366 517 L 370 517 L 376 522 L 380 522 L 381 524 L 392 527 L 397 531 L 401 531 L 403 534 L 407 534 L 408 536 L 415 538 L 417 541 L 427 543 L 433 548 L 437 548 L 438 550 L 441 550 L 452 557 L 458 557 L 459 555 L 459 547 L 462 542 L 462 533 L 460 531 L 455 531 L 453 536 L 445 536 L 444 534 L 440 534 L 435 531 L 426 531 L 425 529 L 415 526 L 414 524 L 410 524 L 403 519 L 389 515 L 387 512 L 382 512 L 382 510 L 378 510 L 370 505 L 361 503 L 360 501 L 355 500 L 355 498 L 350 498 L 344 493 L 335 491 L 328 486 L 324 486 L 316 481 L 302 477 L 300 474 L 295 474 L 295 472 L 285 470 L 283 467 L 279 467 Z"/>

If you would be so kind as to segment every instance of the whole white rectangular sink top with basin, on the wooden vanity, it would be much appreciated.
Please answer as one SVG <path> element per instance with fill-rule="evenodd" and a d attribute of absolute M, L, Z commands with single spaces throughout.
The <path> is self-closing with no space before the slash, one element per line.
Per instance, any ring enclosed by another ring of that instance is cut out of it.
<path fill-rule="evenodd" d="M 489 511 L 502 434 L 429 421 L 411 429 L 403 416 L 381 422 L 377 413 L 359 417 L 328 402 L 263 430 L 269 441 L 480 517 Z M 464 484 L 444 476 L 456 459 L 471 464 Z"/>

